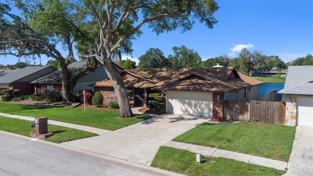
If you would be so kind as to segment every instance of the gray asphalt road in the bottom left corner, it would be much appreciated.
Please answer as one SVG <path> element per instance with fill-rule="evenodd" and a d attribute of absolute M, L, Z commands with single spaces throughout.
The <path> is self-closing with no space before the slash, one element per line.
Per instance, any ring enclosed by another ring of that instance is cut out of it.
<path fill-rule="evenodd" d="M 103 160 L 0 135 L 0 176 L 153 176 Z"/>

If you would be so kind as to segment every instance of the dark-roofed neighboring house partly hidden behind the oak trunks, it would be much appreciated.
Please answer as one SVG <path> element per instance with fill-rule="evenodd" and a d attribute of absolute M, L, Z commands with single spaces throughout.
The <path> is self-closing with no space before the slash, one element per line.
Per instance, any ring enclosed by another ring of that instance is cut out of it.
<path fill-rule="evenodd" d="M 121 71 L 123 68 L 114 64 L 118 71 Z M 79 72 L 86 67 L 86 62 L 74 62 L 67 66 L 68 70 L 72 73 L 72 78 L 79 74 Z M 108 79 L 108 75 L 103 66 L 98 66 L 93 72 L 86 73 L 81 76 L 77 84 L 75 85 L 73 92 L 80 92 L 83 90 L 93 89 L 93 87 L 88 86 L 91 83 L 100 81 L 103 79 Z M 58 90 L 62 89 L 62 69 L 58 69 L 42 78 L 34 80 L 31 82 L 34 84 L 35 94 L 45 94 L 46 90 Z"/>

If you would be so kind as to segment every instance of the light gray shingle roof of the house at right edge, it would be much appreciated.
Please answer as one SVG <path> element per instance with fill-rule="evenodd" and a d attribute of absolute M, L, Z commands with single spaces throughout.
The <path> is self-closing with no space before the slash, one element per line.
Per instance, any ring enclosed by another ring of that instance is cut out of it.
<path fill-rule="evenodd" d="M 277 93 L 313 95 L 313 66 L 289 66 L 285 87 Z"/>

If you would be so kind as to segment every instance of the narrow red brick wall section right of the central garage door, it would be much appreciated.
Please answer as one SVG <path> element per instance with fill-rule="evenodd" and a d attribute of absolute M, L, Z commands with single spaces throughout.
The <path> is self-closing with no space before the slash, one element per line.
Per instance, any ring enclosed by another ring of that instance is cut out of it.
<path fill-rule="evenodd" d="M 213 92 L 213 119 L 223 120 L 224 93 Z"/>

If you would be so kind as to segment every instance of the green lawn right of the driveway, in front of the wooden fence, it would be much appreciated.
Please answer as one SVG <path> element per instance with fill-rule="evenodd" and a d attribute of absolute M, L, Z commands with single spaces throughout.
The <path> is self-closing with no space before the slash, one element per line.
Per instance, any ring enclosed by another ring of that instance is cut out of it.
<path fill-rule="evenodd" d="M 215 147 L 288 162 L 295 127 L 239 122 L 203 123 L 173 141 Z"/>

